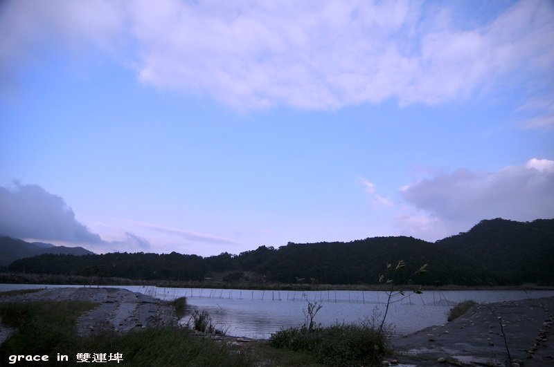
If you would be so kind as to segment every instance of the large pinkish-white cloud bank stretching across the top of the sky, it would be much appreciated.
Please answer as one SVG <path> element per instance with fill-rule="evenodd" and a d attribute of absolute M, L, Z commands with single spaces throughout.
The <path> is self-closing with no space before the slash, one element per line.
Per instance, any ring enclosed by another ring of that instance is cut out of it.
<path fill-rule="evenodd" d="M 45 44 L 95 49 L 134 68 L 145 84 L 240 110 L 339 109 L 390 98 L 439 104 L 524 86 L 521 124 L 553 126 L 553 3 L 519 1 L 491 19 L 468 17 L 473 3 L 454 6 L 8 1 L 0 12 L 0 34 L 10 35 L 0 37 L 0 70 L 12 75 Z"/>

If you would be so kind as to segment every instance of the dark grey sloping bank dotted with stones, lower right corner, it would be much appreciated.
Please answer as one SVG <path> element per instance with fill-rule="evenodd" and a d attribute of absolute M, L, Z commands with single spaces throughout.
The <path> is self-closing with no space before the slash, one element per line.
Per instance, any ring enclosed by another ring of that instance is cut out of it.
<path fill-rule="evenodd" d="M 393 340 L 395 358 L 415 366 L 512 366 L 509 350 L 513 366 L 554 366 L 553 314 L 554 297 L 476 305 L 443 326 Z"/>

